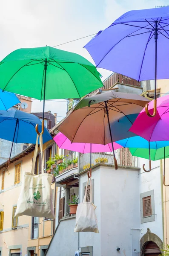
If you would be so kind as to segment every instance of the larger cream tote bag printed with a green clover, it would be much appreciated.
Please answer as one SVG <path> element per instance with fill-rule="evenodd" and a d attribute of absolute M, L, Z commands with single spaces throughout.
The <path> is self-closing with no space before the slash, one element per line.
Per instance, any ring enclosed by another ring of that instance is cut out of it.
<path fill-rule="evenodd" d="M 29 215 L 33 217 L 54 218 L 54 209 L 52 202 L 52 174 L 44 173 L 43 168 L 43 151 L 42 151 L 42 134 L 40 134 L 40 152 L 42 160 L 42 174 L 35 175 L 34 167 L 38 151 L 38 137 L 34 149 L 32 162 L 32 171 L 25 172 L 21 187 L 20 196 L 17 202 L 15 216 Z"/>

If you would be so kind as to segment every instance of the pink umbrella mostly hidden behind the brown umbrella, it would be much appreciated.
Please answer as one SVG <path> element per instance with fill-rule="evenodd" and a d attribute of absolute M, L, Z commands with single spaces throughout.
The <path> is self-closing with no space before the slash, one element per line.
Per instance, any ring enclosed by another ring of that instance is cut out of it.
<path fill-rule="evenodd" d="M 88 177 L 91 177 L 92 173 L 92 154 L 96 152 L 112 152 L 112 143 L 102 145 L 94 143 L 71 143 L 71 141 L 61 132 L 59 132 L 55 137 L 54 141 L 59 146 L 59 148 L 76 151 L 79 153 L 90 153 L 90 173 L 88 172 Z M 114 150 L 122 148 L 123 146 L 113 143 Z"/>

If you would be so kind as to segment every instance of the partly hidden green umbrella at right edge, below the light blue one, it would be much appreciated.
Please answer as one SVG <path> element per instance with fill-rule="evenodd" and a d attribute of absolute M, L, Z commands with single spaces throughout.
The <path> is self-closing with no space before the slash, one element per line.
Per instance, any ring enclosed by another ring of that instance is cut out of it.
<path fill-rule="evenodd" d="M 163 184 L 164 186 L 169 186 L 165 184 L 165 158 L 169 157 L 169 146 L 158 148 L 158 149 L 151 149 L 151 148 L 129 148 L 131 154 L 135 157 L 142 157 L 149 159 L 150 171 L 151 171 L 151 160 L 160 160 L 164 159 L 164 174 L 163 174 Z M 143 164 L 143 167 L 145 164 Z M 146 171 L 145 172 L 150 172 Z"/>

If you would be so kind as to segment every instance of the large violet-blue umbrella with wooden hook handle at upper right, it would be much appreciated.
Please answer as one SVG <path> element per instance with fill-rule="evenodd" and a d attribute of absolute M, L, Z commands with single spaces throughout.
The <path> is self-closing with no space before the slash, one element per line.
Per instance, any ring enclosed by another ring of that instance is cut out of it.
<path fill-rule="evenodd" d="M 132 77 L 137 81 L 169 79 L 169 6 L 126 12 L 97 33 L 85 48 L 96 67 Z"/>

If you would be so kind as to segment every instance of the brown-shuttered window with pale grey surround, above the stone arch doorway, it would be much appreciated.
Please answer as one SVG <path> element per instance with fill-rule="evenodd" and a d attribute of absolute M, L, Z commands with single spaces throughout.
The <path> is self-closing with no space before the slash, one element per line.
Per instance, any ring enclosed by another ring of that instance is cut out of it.
<path fill-rule="evenodd" d="M 141 223 L 155 221 L 154 190 L 140 194 Z"/>

